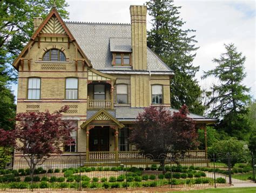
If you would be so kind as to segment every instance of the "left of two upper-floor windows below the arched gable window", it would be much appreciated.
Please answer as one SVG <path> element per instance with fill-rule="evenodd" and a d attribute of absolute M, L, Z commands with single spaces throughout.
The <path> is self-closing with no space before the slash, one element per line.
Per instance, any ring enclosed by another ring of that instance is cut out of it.
<path fill-rule="evenodd" d="M 28 99 L 40 99 L 40 78 L 29 78 Z"/>

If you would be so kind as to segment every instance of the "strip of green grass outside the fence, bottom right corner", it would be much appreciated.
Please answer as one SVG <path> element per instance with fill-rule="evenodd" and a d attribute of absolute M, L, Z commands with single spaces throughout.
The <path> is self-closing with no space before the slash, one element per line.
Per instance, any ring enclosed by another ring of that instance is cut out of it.
<path fill-rule="evenodd" d="M 189 190 L 189 191 L 173 191 L 171 193 L 180 193 L 180 192 L 186 192 L 186 193 L 240 193 L 240 192 L 246 192 L 246 193 L 255 193 L 256 187 L 253 188 L 215 188 L 215 189 L 204 189 L 204 190 Z"/>

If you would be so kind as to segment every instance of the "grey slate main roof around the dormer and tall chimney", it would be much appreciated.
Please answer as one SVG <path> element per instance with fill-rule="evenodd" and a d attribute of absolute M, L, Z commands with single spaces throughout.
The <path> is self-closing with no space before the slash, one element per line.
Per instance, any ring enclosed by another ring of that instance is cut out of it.
<path fill-rule="evenodd" d="M 102 70 L 104 73 L 116 70 L 133 71 L 129 66 L 111 65 L 111 51 L 130 51 L 131 49 L 130 24 L 65 23 L 86 56 L 91 60 L 93 68 Z M 147 71 L 173 74 L 173 71 L 149 48 L 147 48 Z"/>

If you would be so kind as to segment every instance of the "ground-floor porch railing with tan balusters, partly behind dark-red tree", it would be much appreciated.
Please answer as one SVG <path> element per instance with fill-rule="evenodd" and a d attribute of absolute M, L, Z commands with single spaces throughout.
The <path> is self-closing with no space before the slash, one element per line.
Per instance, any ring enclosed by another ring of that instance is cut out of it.
<path fill-rule="evenodd" d="M 185 153 L 176 154 L 176 159 L 205 159 L 205 150 L 190 150 Z M 88 151 L 86 153 L 87 162 L 98 162 L 98 161 L 136 161 L 145 160 L 147 157 L 139 151 Z M 167 157 L 171 158 L 173 155 L 167 154 Z"/>

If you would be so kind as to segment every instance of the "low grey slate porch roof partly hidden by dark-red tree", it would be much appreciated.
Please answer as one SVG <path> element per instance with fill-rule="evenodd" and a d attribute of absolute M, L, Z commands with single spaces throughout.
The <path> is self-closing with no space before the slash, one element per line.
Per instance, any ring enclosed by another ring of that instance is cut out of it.
<path fill-rule="evenodd" d="M 168 109 L 171 113 L 179 111 L 178 109 L 174 109 L 170 107 Z M 138 114 L 142 113 L 143 111 L 144 111 L 144 108 L 140 108 L 140 107 L 115 107 L 114 111 L 109 110 L 107 112 L 109 112 L 114 118 L 116 118 L 119 121 L 135 121 Z M 98 112 L 97 110 L 87 109 L 87 119 L 90 119 L 91 116 L 93 116 L 97 112 Z M 193 113 L 188 114 L 188 117 L 192 118 L 195 121 L 211 121 L 211 122 L 217 121 L 215 119 L 207 118 L 206 116 L 197 115 Z"/>

